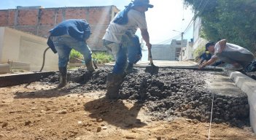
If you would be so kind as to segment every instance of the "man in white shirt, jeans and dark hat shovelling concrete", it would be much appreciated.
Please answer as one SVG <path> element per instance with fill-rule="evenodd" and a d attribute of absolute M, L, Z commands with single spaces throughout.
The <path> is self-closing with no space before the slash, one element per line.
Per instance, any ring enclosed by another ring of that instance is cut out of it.
<path fill-rule="evenodd" d="M 111 21 L 103 37 L 104 46 L 115 56 L 115 66 L 112 73 L 106 77 L 106 98 L 119 98 L 120 85 L 123 77 L 136 63 L 136 58 L 128 58 L 130 54 L 136 54 L 131 50 L 136 49 L 133 39 L 138 28 L 141 36 L 150 49 L 150 36 L 147 31 L 145 12 L 152 8 L 149 0 L 134 0 Z M 129 48 L 131 47 L 131 48 Z M 128 49 L 129 48 L 129 49 Z M 131 49 L 131 50 L 130 50 Z M 136 57 L 136 56 L 133 56 Z M 128 66 L 128 61 L 131 61 Z"/>

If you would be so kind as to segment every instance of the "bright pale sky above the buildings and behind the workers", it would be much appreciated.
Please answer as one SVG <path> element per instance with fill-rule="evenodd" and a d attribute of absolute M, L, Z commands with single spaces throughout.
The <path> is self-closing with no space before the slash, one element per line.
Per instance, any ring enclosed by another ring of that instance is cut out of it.
<path fill-rule="evenodd" d="M 123 9 L 131 0 L 1 0 L 0 9 L 15 9 L 17 6 L 50 7 L 91 7 L 115 5 Z M 183 0 L 150 0 L 154 7 L 146 12 L 147 26 L 152 44 L 170 44 L 173 36 L 185 31 L 193 18 L 191 8 L 183 7 Z M 184 19 L 184 20 L 182 20 Z M 176 31 L 173 31 L 176 30 Z M 193 26 L 185 32 L 184 39 L 193 38 Z"/>

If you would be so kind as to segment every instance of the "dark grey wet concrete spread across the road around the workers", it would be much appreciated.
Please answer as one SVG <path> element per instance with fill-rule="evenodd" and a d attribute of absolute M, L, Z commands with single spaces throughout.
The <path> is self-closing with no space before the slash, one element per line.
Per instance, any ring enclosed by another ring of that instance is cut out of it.
<path fill-rule="evenodd" d="M 100 67 L 90 73 L 86 69 L 69 71 L 66 93 L 86 93 L 106 90 L 106 75 L 112 66 Z M 58 73 L 41 80 L 44 85 L 58 83 Z M 155 120 L 186 117 L 243 127 L 249 125 L 247 95 L 220 71 L 160 68 L 158 74 L 149 74 L 144 68 L 134 68 L 125 76 L 120 98 L 134 100 L 146 106 Z"/>

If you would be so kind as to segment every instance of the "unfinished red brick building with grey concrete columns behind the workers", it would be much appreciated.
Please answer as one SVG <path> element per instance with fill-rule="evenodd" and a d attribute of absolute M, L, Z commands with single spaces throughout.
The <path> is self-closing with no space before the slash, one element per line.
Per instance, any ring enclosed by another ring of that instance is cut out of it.
<path fill-rule="evenodd" d="M 48 31 L 63 20 L 72 18 L 86 19 L 92 28 L 88 40 L 92 50 L 105 50 L 102 37 L 109 22 L 119 12 L 115 6 L 104 7 L 17 7 L 17 9 L 0 9 L 0 26 L 8 26 L 47 38 Z"/>

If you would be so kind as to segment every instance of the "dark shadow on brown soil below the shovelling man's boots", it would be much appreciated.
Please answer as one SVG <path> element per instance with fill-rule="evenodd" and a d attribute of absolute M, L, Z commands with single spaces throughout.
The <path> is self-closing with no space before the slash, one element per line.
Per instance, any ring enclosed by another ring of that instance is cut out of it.
<path fill-rule="evenodd" d="M 99 98 L 86 103 L 85 111 L 90 112 L 89 116 L 98 121 L 104 120 L 119 128 L 130 129 L 141 128 L 147 125 L 137 119 L 141 106 L 142 104 L 133 104 L 130 108 L 125 106 L 122 100 L 109 101 L 106 98 Z"/>

